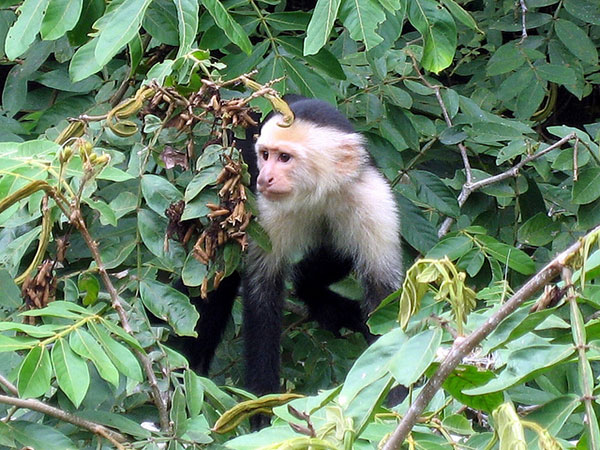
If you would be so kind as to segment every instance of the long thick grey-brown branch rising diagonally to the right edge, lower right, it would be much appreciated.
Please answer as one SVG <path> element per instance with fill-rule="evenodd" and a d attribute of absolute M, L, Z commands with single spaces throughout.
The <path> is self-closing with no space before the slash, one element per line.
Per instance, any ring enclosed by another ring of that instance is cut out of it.
<path fill-rule="evenodd" d="M 578 239 L 577 242 L 560 253 L 542 270 L 530 278 L 529 281 L 525 283 L 521 289 L 515 292 L 510 300 L 502 305 L 495 314 L 483 323 L 483 325 L 465 337 L 462 341 L 454 343 L 448 356 L 446 356 L 438 370 L 429 379 L 427 384 L 425 384 L 414 403 L 408 408 L 408 411 L 406 411 L 402 421 L 385 443 L 383 450 L 395 450 L 400 448 L 410 433 L 410 430 L 417 423 L 421 413 L 441 388 L 446 378 L 448 378 L 454 369 L 461 363 L 463 358 L 469 355 L 483 339 L 498 327 L 502 320 L 513 313 L 525 300 L 531 298 L 531 296 L 539 289 L 559 275 L 566 263 L 579 251 L 583 242 L 585 242 L 585 239 L 593 233 L 598 232 L 600 232 L 600 226 L 594 228 L 585 237 Z"/>

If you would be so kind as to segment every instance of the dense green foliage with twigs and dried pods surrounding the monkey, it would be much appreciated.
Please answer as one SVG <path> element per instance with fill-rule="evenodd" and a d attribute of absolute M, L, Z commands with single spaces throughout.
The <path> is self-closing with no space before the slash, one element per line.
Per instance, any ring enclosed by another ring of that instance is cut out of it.
<path fill-rule="evenodd" d="M 0 41 L 1 448 L 600 449 L 598 2 L 0 0 Z M 307 397 L 255 400 L 240 305 L 202 378 L 171 286 L 268 246 L 232 144 L 277 92 L 368 138 L 407 273 L 369 348 L 292 293 Z"/>

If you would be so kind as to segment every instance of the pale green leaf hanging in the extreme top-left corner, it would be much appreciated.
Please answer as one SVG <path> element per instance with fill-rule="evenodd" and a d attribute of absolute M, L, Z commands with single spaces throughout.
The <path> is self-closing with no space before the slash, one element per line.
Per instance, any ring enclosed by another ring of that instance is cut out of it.
<path fill-rule="evenodd" d="M 17 21 L 8 30 L 4 43 L 8 59 L 14 60 L 29 49 L 40 31 L 49 2 L 50 0 L 25 0 L 19 6 Z"/>

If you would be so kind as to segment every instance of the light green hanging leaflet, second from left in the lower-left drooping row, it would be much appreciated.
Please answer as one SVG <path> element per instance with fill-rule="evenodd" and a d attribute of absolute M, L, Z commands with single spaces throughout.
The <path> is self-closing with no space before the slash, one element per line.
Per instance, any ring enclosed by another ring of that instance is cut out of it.
<path fill-rule="evenodd" d="M 77 356 L 64 339 L 58 339 L 52 347 L 52 364 L 58 386 L 69 400 L 79 408 L 90 386 L 87 363 Z"/>

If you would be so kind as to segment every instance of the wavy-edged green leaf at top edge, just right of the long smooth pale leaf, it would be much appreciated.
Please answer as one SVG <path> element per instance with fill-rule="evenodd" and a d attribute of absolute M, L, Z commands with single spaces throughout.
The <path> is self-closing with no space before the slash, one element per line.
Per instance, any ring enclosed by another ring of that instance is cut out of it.
<path fill-rule="evenodd" d="M 330 9 L 328 13 L 332 14 L 333 8 Z M 385 20 L 385 12 L 375 0 L 346 0 L 342 3 L 339 17 L 352 39 L 364 43 L 365 50 L 369 51 L 383 41 L 375 30 Z"/>

